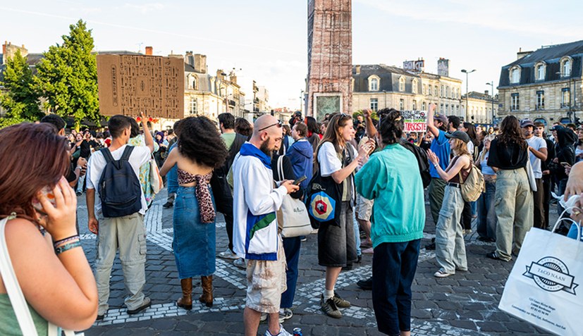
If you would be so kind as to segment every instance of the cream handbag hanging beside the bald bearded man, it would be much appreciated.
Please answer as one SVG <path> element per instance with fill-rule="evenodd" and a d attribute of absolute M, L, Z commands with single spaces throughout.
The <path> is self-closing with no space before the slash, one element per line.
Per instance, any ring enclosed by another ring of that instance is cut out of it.
<path fill-rule="evenodd" d="M 277 171 L 278 180 L 284 180 L 283 155 L 277 160 Z M 312 233 L 312 225 L 305 204 L 299 199 L 294 199 L 290 194 L 283 197 L 277 222 L 281 229 L 281 237 L 284 238 L 307 236 Z"/>

